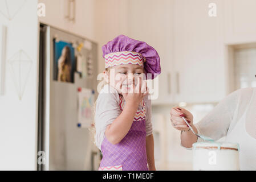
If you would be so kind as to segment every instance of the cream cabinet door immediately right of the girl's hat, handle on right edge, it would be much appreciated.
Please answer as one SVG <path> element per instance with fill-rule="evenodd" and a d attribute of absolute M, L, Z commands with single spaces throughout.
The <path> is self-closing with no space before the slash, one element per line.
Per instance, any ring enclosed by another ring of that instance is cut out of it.
<path fill-rule="evenodd" d="M 159 97 L 152 100 L 152 104 L 170 104 L 173 101 L 170 85 L 173 69 L 172 3 L 169 0 L 162 0 L 161 3 L 157 0 L 129 1 L 128 36 L 147 42 L 160 56 Z"/>

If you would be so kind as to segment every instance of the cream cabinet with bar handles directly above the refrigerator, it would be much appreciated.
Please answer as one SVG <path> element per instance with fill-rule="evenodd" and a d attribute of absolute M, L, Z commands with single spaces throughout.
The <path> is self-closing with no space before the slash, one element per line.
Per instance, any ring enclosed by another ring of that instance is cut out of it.
<path fill-rule="evenodd" d="M 94 39 L 94 0 L 39 0 L 46 5 L 46 16 L 39 21 L 50 26 Z"/>

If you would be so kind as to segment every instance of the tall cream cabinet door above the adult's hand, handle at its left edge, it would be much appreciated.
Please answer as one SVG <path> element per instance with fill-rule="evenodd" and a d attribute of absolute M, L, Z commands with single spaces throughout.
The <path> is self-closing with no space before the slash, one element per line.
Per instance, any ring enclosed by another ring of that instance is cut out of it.
<path fill-rule="evenodd" d="M 174 1 L 175 102 L 218 102 L 226 93 L 222 1 Z"/>

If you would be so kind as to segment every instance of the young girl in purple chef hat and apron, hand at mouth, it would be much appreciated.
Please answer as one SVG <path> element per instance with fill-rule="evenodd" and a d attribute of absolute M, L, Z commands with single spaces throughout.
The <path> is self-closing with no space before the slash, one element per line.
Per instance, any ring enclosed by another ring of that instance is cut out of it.
<path fill-rule="evenodd" d="M 143 73 L 158 75 L 160 57 L 147 43 L 124 35 L 102 50 L 107 84 L 95 109 L 95 143 L 103 154 L 99 170 L 155 170 L 151 101 Z"/>

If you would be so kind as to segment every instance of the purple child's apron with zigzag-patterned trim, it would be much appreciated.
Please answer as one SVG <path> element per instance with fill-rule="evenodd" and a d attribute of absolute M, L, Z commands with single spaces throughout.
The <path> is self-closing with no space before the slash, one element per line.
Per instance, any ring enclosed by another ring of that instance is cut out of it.
<path fill-rule="evenodd" d="M 123 110 L 123 96 L 119 95 L 119 98 L 119 106 Z M 112 144 L 104 138 L 101 143 L 103 158 L 99 170 L 148 171 L 144 101 L 141 106 L 135 114 L 131 129 L 121 142 Z"/>

